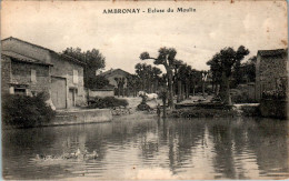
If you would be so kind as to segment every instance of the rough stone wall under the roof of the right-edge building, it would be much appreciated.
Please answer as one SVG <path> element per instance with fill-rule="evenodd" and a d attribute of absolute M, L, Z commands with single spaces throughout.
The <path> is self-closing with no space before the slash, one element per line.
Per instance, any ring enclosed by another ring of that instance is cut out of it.
<path fill-rule="evenodd" d="M 256 64 L 256 99 L 261 99 L 263 91 L 275 90 L 278 79 L 287 78 L 287 54 L 262 57 L 258 54 Z"/>

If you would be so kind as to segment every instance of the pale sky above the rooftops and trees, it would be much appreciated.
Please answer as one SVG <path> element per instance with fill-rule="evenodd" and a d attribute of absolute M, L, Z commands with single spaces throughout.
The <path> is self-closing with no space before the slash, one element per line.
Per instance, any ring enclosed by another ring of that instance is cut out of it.
<path fill-rule="evenodd" d="M 148 9 L 175 12 L 148 13 Z M 192 8 L 196 12 L 176 12 Z M 140 9 L 141 13 L 103 13 L 107 9 Z M 144 12 L 143 12 L 144 11 Z M 68 47 L 99 49 L 106 70 L 134 72 L 139 56 L 157 57 L 175 48 L 176 59 L 208 70 L 210 58 L 225 47 L 250 50 L 287 48 L 286 1 L 4 1 L 1 39 L 19 38 L 57 52 Z M 246 61 L 246 60 L 245 60 Z M 165 70 L 162 67 L 159 67 Z"/>

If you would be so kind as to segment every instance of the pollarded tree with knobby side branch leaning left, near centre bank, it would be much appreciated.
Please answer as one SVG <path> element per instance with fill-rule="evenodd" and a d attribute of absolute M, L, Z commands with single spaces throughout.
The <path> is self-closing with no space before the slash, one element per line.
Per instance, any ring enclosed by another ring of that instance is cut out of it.
<path fill-rule="evenodd" d="M 173 48 L 160 48 L 159 49 L 159 54 L 157 58 L 152 58 L 150 57 L 150 54 L 148 52 L 142 52 L 140 54 L 140 59 L 141 60 L 147 60 L 147 59 L 152 59 L 155 60 L 153 63 L 155 64 L 162 64 L 166 68 L 167 71 L 167 76 L 168 76 L 168 87 L 169 87 L 169 107 L 173 108 L 173 94 L 172 94 L 172 70 L 173 70 L 173 66 L 176 62 L 176 54 L 177 51 Z"/>

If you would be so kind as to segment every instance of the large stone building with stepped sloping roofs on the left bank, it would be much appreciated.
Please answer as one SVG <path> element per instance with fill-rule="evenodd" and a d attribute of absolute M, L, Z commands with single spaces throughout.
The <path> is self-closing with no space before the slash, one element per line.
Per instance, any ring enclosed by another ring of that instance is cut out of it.
<path fill-rule="evenodd" d="M 2 93 L 8 91 L 16 93 L 20 91 L 14 89 L 18 87 L 24 89 L 26 94 L 48 91 L 57 109 L 71 108 L 87 102 L 83 90 L 84 63 L 12 37 L 2 40 L 1 48 L 3 54 L 1 62 L 4 62 Z M 10 69 L 7 63 L 9 61 L 12 62 Z M 28 64 L 28 61 L 29 66 L 23 66 L 23 63 Z M 14 82 L 18 84 L 24 82 L 27 86 L 17 86 Z"/>

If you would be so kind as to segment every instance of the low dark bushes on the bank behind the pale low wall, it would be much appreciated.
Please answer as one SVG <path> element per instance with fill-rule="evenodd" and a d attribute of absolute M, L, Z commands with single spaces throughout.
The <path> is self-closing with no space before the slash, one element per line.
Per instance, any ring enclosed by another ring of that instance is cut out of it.
<path fill-rule="evenodd" d="M 129 103 L 126 99 L 117 99 L 114 97 L 106 97 L 106 98 L 96 97 L 88 108 L 103 109 L 103 108 L 113 108 L 113 107 L 127 107 L 128 104 Z"/>

